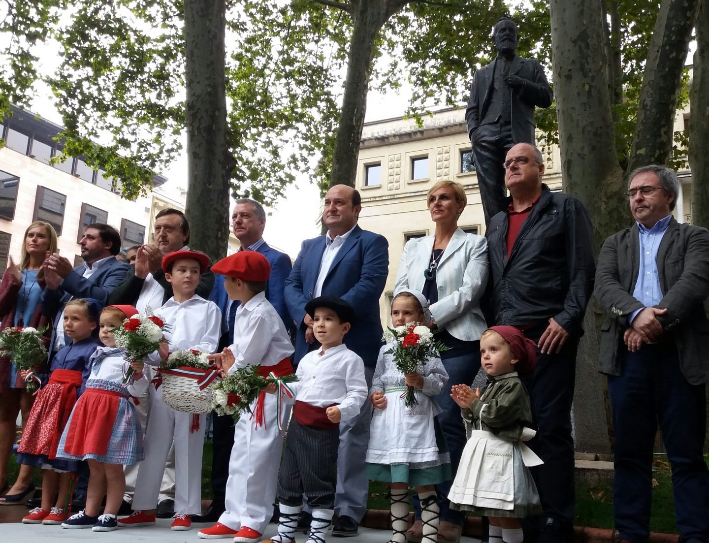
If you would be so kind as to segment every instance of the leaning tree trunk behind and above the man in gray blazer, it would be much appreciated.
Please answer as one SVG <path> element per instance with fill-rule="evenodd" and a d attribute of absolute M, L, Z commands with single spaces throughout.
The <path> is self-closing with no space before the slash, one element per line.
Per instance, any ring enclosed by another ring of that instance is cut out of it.
<path fill-rule="evenodd" d="M 672 152 L 677 94 L 700 0 L 663 0 L 640 90 L 629 171 L 666 164 Z"/>

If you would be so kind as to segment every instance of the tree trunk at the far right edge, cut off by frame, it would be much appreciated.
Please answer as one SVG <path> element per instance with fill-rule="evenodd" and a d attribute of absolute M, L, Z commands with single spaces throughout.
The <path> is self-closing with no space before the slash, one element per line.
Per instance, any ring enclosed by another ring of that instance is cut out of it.
<path fill-rule="evenodd" d="M 709 228 L 709 0 L 702 0 L 694 26 L 692 86 L 689 89 L 689 169 L 692 172 L 692 224 Z M 704 302 L 709 309 L 709 301 Z M 707 388 L 709 420 L 709 387 Z M 709 432 L 704 450 L 709 451 Z"/>

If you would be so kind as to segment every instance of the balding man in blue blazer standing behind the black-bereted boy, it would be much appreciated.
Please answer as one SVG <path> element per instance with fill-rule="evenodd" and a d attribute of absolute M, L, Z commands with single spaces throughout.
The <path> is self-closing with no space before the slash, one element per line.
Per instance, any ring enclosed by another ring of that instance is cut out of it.
<path fill-rule="evenodd" d="M 359 228 L 360 211 L 361 198 L 356 190 L 335 185 L 328 191 L 323 211 L 328 233 L 303 242 L 286 280 L 285 296 L 297 328 L 296 364 L 309 350 L 319 347 L 313 335 L 313 320 L 306 314 L 306 303 L 325 294 L 350 303 L 357 320 L 345 335 L 345 345 L 362 357 L 367 383 L 372 384 L 381 347 L 379 297 L 389 271 L 389 244 L 384 236 Z M 371 406 L 367 402 L 358 417 L 340 423 L 335 537 L 356 535 L 359 521 L 367 510 L 364 459 L 370 419 Z"/>

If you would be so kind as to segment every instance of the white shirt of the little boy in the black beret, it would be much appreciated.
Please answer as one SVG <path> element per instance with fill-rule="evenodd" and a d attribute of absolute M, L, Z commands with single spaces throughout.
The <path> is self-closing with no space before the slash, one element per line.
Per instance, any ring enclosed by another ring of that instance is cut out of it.
<path fill-rule="evenodd" d="M 298 363 L 296 375 L 299 380 L 288 385 L 295 394 L 292 401 L 317 407 L 338 404 L 342 420 L 359 415 L 367 400 L 364 362 L 344 343 L 325 352 L 308 352 Z"/>

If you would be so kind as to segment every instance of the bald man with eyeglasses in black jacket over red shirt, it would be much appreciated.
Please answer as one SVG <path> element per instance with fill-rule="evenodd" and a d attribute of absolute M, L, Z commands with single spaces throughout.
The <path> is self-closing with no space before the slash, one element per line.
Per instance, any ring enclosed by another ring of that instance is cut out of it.
<path fill-rule="evenodd" d="M 581 202 L 542 183 L 545 167 L 537 147 L 515 145 L 500 167 L 510 197 L 485 234 L 491 277 L 488 324 L 513 325 L 537 344 L 537 366 L 521 376 L 538 428 L 530 447 L 545 462 L 532 470 L 542 499 L 537 542 L 571 542 L 571 401 L 576 348 L 596 270 L 593 228 Z M 534 536 L 531 528 L 527 541 Z"/>

